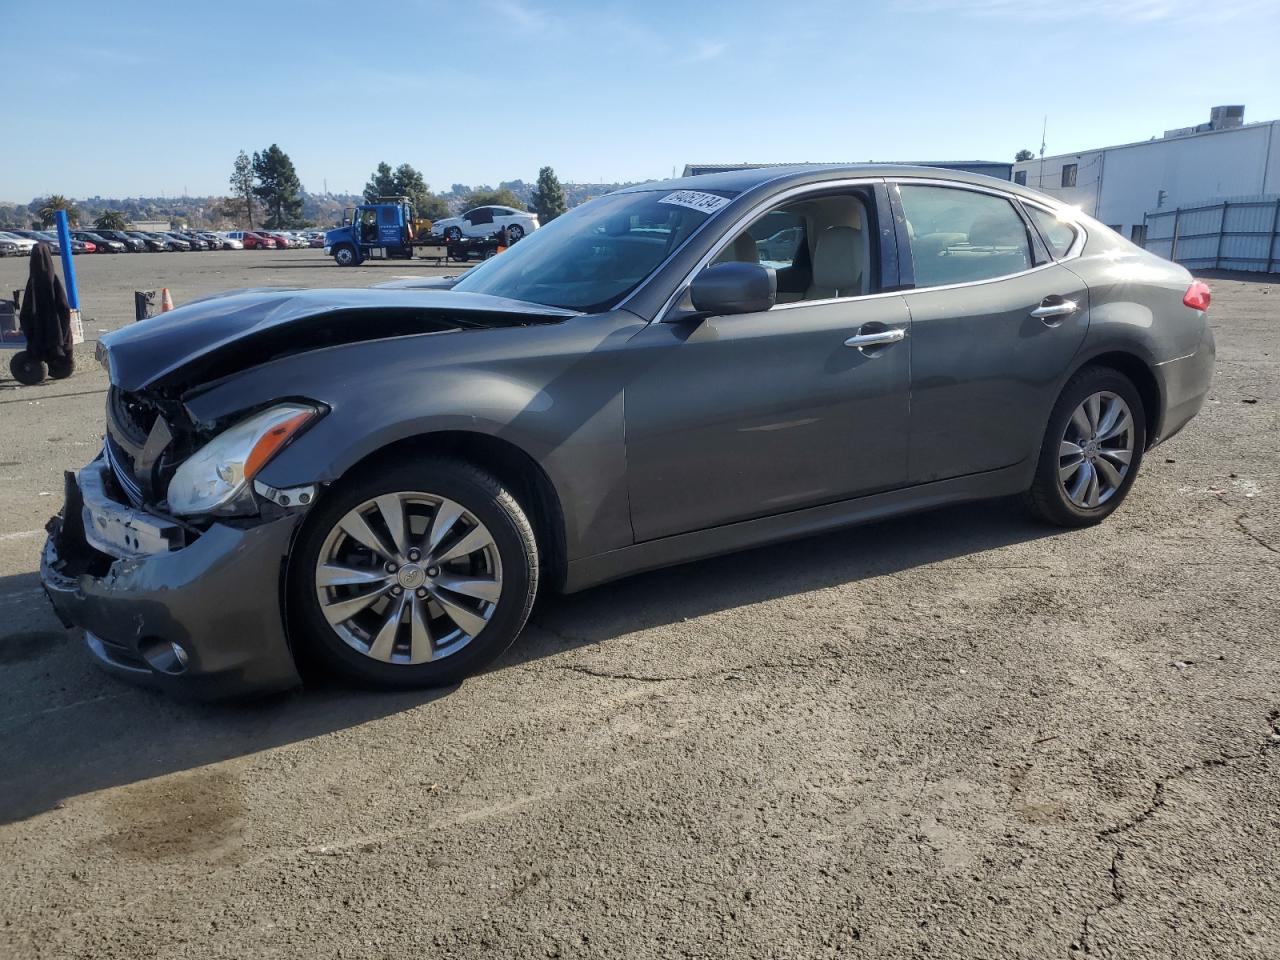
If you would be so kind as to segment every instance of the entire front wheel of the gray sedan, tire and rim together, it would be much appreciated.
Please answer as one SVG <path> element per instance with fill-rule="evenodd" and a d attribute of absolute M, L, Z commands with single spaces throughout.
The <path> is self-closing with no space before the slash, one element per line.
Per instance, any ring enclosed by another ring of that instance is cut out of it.
<path fill-rule="evenodd" d="M 520 503 L 454 460 L 370 470 L 335 485 L 289 559 L 296 644 L 379 687 L 456 684 L 515 641 L 538 591 Z"/>

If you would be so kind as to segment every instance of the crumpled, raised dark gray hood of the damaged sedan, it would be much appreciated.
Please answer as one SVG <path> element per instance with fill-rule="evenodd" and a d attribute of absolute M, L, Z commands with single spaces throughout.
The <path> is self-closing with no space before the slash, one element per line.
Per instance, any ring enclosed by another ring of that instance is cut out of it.
<path fill-rule="evenodd" d="M 195 385 L 307 349 L 422 333 L 558 323 L 571 310 L 431 289 L 259 288 L 192 301 L 99 343 L 124 390 Z"/>

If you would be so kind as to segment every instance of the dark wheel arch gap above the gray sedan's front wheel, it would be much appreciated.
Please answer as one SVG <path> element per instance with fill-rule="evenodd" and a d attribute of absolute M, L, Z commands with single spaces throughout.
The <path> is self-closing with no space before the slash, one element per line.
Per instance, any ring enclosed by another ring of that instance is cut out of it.
<path fill-rule="evenodd" d="M 376 468 L 383 461 L 403 462 L 415 457 L 453 457 L 488 471 L 511 490 L 534 527 L 543 582 L 553 590 L 561 589 L 568 561 L 559 494 L 543 466 L 509 440 L 471 430 L 438 430 L 403 436 L 353 462 L 337 483 Z"/>

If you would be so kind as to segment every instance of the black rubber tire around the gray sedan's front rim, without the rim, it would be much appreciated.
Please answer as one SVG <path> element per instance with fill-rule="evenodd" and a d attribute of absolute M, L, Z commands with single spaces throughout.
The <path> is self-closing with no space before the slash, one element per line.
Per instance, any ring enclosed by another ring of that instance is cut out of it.
<path fill-rule="evenodd" d="M 493 534 L 502 559 L 503 588 L 489 625 L 452 657 L 431 663 L 383 663 L 348 646 L 316 599 L 315 567 L 333 525 L 352 507 L 379 494 L 422 490 L 461 503 Z M 294 649 L 302 648 L 337 676 L 383 689 L 449 686 L 499 657 L 520 635 L 538 594 L 538 544 L 515 497 L 470 463 L 433 458 L 388 466 L 344 479 L 325 493 L 306 520 L 289 557 L 288 603 Z"/>

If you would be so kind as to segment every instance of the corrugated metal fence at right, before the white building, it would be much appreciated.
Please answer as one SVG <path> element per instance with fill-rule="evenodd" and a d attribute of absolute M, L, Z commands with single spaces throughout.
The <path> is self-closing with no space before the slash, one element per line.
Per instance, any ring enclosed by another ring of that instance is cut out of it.
<path fill-rule="evenodd" d="M 1183 266 L 1280 273 L 1280 197 L 1161 210 L 1142 221 L 1143 247 Z"/>

